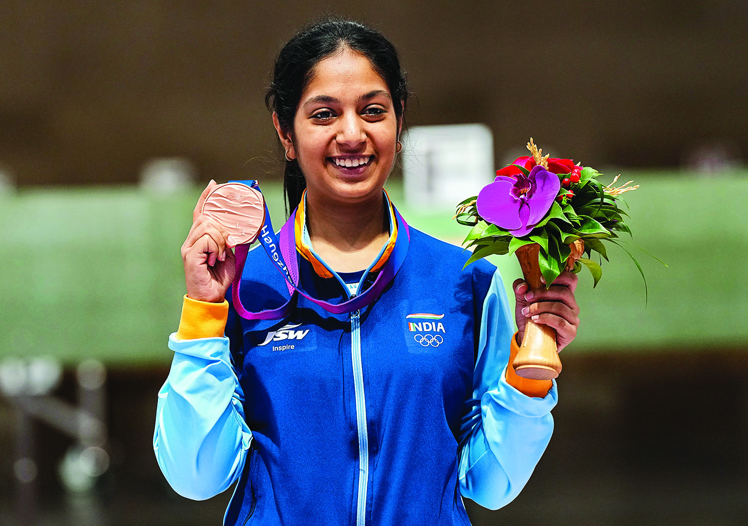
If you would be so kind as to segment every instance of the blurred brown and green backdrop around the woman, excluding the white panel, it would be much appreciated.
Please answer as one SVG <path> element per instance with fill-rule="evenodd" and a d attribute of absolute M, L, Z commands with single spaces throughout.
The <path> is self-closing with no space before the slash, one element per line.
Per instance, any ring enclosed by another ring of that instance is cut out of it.
<path fill-rule="evenodd" d="M 491 170 L 534 137 L 634 179 L 634 244 L 669 264 L 584 271 L 551 445 L 473 524 L 747 524 L 746 2 L 3 0 L 0 525 L 220 524 L 230 492 L 181 498 L 151 447 L 179 249 L 210 179 L 260 179 L 282 223 L 264 88 L 326 10 L 398 46 L 408 126 L 484 124 Z M 401 166 L 403 215 L 459 244 Z"/>

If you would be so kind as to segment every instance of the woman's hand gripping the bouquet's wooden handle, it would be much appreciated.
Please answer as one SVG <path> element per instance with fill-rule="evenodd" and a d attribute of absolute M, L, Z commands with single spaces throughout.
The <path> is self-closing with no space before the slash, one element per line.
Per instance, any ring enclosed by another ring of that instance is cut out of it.
<path fill-rule="evenodd" d="M 563 271 L 548 289 L 543 287 L 530 291 L 523 279 L 517 279 L 512 288 L 517 300 L 515 320 L 519 329 L 518 341 L 524 338 L 527 318 L 532 318 L 536 324 L 556 329 L 559 352 L 571 343 L 579 328 L 579 306 L 574 298 L 577 274 Z"/>

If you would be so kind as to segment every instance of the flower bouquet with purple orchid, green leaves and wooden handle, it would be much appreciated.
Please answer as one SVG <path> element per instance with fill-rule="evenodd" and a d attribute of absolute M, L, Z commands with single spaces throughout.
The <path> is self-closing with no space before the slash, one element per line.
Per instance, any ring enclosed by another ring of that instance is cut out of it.
<path fill-rule="evenodd" d="M 498 170 L 494 182 L 477 197 L 457 206 L 457 222 L 473 227 L 463 242 L 473 248 L 466 264 L 492 254 L 516 253 L 531 289 L 541 288 L 544 282 L 550 287 L 563 270 L 576 273 L 583 266 L 592 273 L 595 287 L 602 269 L 591 259 L 592 252 L 598 253 L 599 262 L 607 261 L 603 241 L 620 246 L 618 233 L 631 235 L 619 196 L 639 185 L 628 186 L 629 181 L 613 187 L 618 176 L 603 185 L 597 180 L 602 174 L 594 168 L 571 159 L 544 157 L 532 138 L 527 149 L 529 156 Z M 636 259 L 634 263 L 642 273 Z M 528 319 L 514 366 L 521 377 L 557 377 L 561 362 L 554 329 Z"/>

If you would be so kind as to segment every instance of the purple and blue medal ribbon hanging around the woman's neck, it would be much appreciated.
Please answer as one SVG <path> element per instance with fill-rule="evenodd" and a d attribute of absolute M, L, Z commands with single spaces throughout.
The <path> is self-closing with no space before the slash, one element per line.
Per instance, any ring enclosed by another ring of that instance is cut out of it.
<path fill-rule="evenodd" d="M 262 193 L 257 181 L 231 182 L 242 183 L 243 185 L 250 186 Z M 285 318 L 291 311 L 292 307 L 295 306 L 298 297 L 297 294 L 301 294 L 301 296 L 304 296 L 307 300 L 313 301 L 321 306 L 322 309 L 333 314 L 343 314 L 344 312 L 353 312 L 358 309 L 363 309 L 379 297 L 379 294 L 384 290 L 384 287 L 392 281 L 397 271 L 402 267 L 402 263 L 405 262 L 405 256 L 408 253 L 408 244 L 410 244 L 411 238 L 408 224 L 405 223 L 405 220 L 402 218 L 399 211 L 394 207 L 393 209 L 395 211 L 399 235 L 396 238 L 395 247 L 393 248 L 392 253 L 390 253 L 390 257 L 387 258 L 387 262 L 380 270 L 373 284 L 361 295 L 352 297 L 350 300 L 341 303 L 330 303 L 328 301 L 318 300 L 299 288 L 298 259 L 296 257 L 296 244 L 294 238 L 294 223 L 298 208 L 293 211 L 291 217 L 289 217 L 286 223 L 281 227 L 279 238 L 273 230 L 268 205 L 265 204 L 265 221 L 263 222 L 263 226 L 260 229 L 260 235 L 258 235 L 257 239 L 263 245 L 265 252 L 273 264 L 275 264 L 275 267 L 278 268 L 283 279 L 286 280 L 286 288 L 288 288 L 291 297 L 286 303 L 278 307 L 278 309 L 250 312 L 244 308 L 242 300 L 239 297 L 239 285 L 242 280 L 244 265 L 247 261 L 247 254 L 249 253 L 249 244 L 241 244 L 237 245 L 235 250 L 236 274 L 231 285 L 231 299 L 233 300 L 234 309 L 236 309 L 236 312 L 238 312 L 242 318 L 247 320 L 280 320 Z M 405 235 L 403 235 L 403 233 Z M 288 263 L 286 264 L 286 262 Z"/>

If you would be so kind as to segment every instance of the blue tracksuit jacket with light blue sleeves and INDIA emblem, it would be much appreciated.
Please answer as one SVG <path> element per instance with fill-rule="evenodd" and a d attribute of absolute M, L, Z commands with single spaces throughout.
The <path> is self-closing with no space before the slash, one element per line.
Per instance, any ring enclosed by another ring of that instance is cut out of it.
<path fill-rule="evenodd" d="M 410 233 L 399 273 L 360 312 L 299 297 L 281 321 L 230 309 L 224 338 L 171 335 L 153 447 L 177 492 L 238 481 L 224 524 L 263 526 L 469 525 L 460 495 L 492 509 L 515 498 L 551 437 L 556 385 L 530 398 L 506 383 L 514 329 L 496 268 L 463 270 L 470 253 Z M 319 299 L 373 281 L 298 261 Z M 240 294 L 252 311 L 287 300 L 261 248 Z"/>

